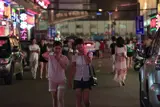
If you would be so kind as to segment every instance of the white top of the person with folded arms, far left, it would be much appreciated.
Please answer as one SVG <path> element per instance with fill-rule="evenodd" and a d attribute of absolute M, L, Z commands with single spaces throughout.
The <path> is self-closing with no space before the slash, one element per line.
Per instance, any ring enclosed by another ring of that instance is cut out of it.
<path fill-rule="evenodd" d="M 37 44 L 34 45 L 30 45 L 29 46 L 29 50 L 30 51 L 36 51 L 38 50 L 40 52 L 40 47 Z M 30 61 L 35 61 L 38 60 L 39 58 L 39 54 L 36 52 L 30 52 Z"/>

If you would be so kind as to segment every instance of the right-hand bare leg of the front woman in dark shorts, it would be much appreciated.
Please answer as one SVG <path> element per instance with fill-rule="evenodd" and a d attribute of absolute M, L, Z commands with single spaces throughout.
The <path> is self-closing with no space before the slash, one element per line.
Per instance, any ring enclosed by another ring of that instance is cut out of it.
<path fill-rule="evenodd" d="M 84 101 L 85 107 L 90 107 L 89 92 L 90 92 L 89 89 L 83 90 L 83 101 Z"/>

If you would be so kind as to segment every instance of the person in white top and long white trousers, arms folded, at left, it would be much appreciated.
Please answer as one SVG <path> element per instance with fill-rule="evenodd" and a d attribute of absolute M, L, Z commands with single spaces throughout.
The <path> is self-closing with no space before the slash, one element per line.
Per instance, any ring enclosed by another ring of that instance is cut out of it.
<path fill-rule="evenodd" d="M 38 59 L 40 53 L 40 47 L 36 44 L 36 39 L 32 40 L 32 44 L 29 46 L 30 51 L 30 66 L 33 79 L 36 79 Z"/>

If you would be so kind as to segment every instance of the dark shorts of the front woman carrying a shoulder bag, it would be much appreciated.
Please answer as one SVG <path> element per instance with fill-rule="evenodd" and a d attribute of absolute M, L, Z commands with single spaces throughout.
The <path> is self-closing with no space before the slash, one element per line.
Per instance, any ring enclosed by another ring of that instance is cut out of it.
<path fill-rule="evenodd" d="M 83 81 L 83 79 L 81 79 L 81 81 L 78 80 L 74 80 L 74 84 L 73 84 L 73 89 L 92 89 L 91 88 L 91 84 L 89 81 Z"/>

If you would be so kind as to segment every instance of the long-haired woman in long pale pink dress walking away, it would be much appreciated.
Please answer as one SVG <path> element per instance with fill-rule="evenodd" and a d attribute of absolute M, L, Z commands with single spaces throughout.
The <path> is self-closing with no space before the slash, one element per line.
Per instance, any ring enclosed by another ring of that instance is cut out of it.
<path fill-rule="evenodd" d="M 124 40 L 122 37 L 119 37 L 116 42 L 115 48 L 115 77 L 114 80 L 119 83 L 120 86 L 125 85 L 125 79 L 127 75 L 127 48 L 124 45 Z"/>

